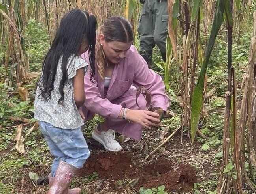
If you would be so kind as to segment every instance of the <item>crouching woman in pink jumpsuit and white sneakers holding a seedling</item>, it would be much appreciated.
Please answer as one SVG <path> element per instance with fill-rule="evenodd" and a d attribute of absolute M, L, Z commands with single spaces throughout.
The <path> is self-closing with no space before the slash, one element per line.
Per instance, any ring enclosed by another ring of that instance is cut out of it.
<path fill-rule="evenodd" d="M 84 77 L 86 100 L 81 110 L 85 121 L 95 114 L 105 118 L 95 127 L 92 138 L 108 151 L 122 149 L 114 131 L 139 140 L 143 127 L 160 122 L 157 113 L 146 110 L 143 95 L 139 95 L 137 106 L 135 94 L 139 86 L 149 90 L 153 106 L 164 111 L 169 106 L 162 78 L 148 68 L 132 41 L 132 28 L 126 19 L 119 16 L 107 19 L 98 29 L 95 75 L 91 75 L 88 67 Z M 81 57 L 90 63 L 88 52 Z"/>

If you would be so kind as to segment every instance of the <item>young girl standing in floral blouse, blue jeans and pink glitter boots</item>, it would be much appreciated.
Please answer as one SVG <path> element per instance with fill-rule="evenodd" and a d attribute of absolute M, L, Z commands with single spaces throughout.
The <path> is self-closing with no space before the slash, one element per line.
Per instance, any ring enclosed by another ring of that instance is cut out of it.
<path fill-rule="evenodd" d="M 83 77 L 88 63 L 79 56 L 89 49 L 93 76 L 96 28 L 94 15 L 81 9 L 68 11 L 43 62 L 34 118 L 39 120 L 54 156 L 48 194 L 81 192 L 80 188 L 68 189 L 71 178 L 90 155 L 78 111 L 85 101 Z"/>

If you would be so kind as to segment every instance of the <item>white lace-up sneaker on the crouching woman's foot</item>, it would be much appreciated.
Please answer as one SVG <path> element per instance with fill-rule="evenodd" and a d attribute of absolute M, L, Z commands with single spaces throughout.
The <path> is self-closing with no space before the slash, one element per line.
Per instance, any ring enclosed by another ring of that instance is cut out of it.
<path fill-rule="evenodd" d="M 92 138 L 100 142 L 107 151 L 120 151 L 122 149 L 121 145 L 115 140 L 115 131 L 112 129 L 107 132 L 101 131 L 100 134 L 94 131 L 92 132 Z"/>

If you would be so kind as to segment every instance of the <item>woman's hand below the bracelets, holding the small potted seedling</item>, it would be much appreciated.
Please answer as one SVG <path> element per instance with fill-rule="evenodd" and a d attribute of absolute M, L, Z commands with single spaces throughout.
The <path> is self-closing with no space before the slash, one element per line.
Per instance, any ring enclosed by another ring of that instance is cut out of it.
<path fill-rule="evenodd" d="M 147 128 L 159 125 L 160 120 L 158 119 L 158 116 L 159 114 L 147 110 L 128 109 L 126 112 L 126 119 Z"/>

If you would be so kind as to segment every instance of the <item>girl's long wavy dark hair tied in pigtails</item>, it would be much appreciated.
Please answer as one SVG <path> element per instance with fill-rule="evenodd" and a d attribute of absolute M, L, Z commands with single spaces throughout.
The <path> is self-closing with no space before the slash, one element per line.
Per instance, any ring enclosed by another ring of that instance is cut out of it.
<path fill-rule="evenodd" d="M 73 54 L 78 54 L 84 37 L 87 38 L 89 44 L 89 60 L 92 69 L 92 79 L 92 76 L 95 74 L 96 29 L 97 20 L 93 14 L 89 14 L 81 9 L 72 9 L 64 15 L 56 32 L 53 44 L 43 61 L 43 72 L 38 83 L 41 90 L 40 95 L 42 95 L 45 100 L 51 99 L 51 91 L 53 90 L 58 61 L 60 57 L 62 57 L 62 79 L 60 80 L 59 87 L 61 97 L 58 100 L 58 103 L 63 104 L 63 87 L 67 79 L 67 63 Z"/>

